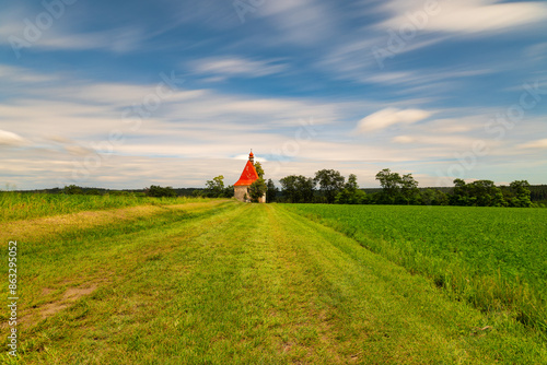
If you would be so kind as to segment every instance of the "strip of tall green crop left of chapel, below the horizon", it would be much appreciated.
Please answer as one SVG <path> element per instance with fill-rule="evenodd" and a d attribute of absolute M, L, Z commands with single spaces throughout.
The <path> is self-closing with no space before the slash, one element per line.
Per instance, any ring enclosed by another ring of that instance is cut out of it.
<path fill-rule="evenodd" d="M 141 204 L 178 204 L 201 198 L 149 198 L 0 191 L 0 222 Z"/>

